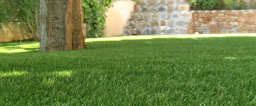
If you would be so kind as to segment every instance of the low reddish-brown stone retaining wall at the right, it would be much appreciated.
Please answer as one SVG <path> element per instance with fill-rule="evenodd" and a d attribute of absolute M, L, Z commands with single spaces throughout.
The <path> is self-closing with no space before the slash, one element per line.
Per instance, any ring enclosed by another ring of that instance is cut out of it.
<path fill-rule="evenodd" d="M 190 33 L 255 33 L 256 10 L 192 11 Z"/>

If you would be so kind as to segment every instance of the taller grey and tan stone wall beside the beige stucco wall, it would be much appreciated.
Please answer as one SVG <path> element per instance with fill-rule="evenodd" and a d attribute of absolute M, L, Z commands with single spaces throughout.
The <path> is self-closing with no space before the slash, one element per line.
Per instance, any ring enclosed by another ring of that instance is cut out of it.
<path fill-rule="evenodd" d="M 187 0 L 140 0 L 123 36 L 187 34 L 191 18 Z"/>

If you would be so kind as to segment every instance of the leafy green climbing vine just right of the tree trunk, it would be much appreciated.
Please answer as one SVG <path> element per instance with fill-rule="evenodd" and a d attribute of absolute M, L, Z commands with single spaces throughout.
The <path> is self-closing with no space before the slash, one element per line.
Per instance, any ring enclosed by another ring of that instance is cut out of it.
<path fill-rule="evenodd" d="M 86 27 L 90 28 L 88 35 L 93 37 L 103 37 L 105 28 L 105 12 L 111 3 L 116 0 L 83 0 L 83 9 L 85 11 L 84 22 Z M 133 0 L 138 1 L 138 0 Z"/>

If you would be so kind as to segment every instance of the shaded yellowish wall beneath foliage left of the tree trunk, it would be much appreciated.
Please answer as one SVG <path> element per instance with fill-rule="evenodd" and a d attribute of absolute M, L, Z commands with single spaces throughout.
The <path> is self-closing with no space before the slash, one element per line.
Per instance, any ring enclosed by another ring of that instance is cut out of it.
<path fill-rule="evenodd" d="M 9 27 L 12 30 L 10 30 L 8 27 L 3 26 L 2 31 L 0 31 L 0 42 L 18 41 L 18 40 L 24 40 L 29 38 L 27 35 L 17 33 L 22 31 L 17 27 L 16 24 L 17 23 L 9 24 Z M 26 32 L 23 32 L 23 33 L 26 33 Z"/>

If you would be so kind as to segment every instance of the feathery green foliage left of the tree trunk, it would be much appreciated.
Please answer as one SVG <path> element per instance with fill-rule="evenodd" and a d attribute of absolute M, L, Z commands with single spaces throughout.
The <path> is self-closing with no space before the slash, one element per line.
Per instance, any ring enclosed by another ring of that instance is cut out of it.
<path fill-rule="evenodd" d="M 18 27 L 26 29 L 34 41 L 38 40 L 39 0 L 0 0 L 0 23 L 9 27 L 10 22 L 18 22 Z"/>

